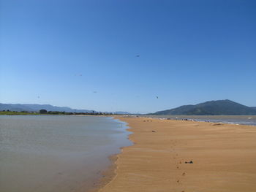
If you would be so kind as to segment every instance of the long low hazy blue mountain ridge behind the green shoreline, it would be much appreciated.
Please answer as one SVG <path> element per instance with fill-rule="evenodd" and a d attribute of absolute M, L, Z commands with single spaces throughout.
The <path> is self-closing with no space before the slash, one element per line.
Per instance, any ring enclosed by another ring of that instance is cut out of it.
<path fill-rule="evenodd" d="M 59 112 L 93 112 L 93 110 L 75 110 L 69 107 L 56 107 L 50 104 L 1 104 L 0 110 L 38 112 L 39 110 Z"/>

